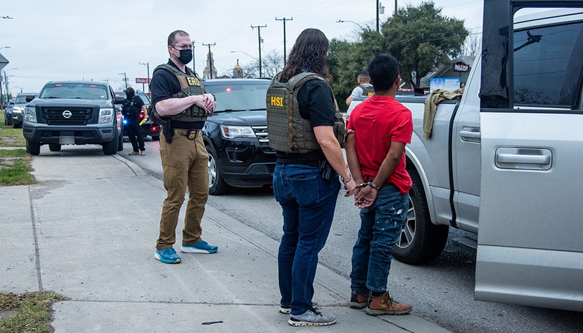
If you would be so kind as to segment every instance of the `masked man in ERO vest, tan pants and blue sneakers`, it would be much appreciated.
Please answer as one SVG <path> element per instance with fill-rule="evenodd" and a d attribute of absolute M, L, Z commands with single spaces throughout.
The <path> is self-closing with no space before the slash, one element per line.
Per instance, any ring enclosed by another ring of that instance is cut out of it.
<path fill-rule="evenodd" d="M 151 116 L 162 125 L 160 157 L 167 190 L 154 257 L 166 264 L 180 262 L 173 246 L 187 187 L 189 197 L 180 250 L 216 253 L 218 249 L 201 238 L 201 220 L 208 199 L 208 152 L 201 129 L 216 103 L 212 94 L 205 94 L 201 80 L 186 67 L 192 61 L 191 43 L 185 31 L 174 31 L 168 36 L 170 59 L 154 69 L 150 85 Z"/>

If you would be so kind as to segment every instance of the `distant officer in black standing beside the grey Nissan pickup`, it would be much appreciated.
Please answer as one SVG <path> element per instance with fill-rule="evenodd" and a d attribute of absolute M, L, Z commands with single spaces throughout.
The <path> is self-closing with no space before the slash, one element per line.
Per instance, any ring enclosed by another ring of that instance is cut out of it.
<path fill-rule="evenodd" d="M 140 121 L 143 118 L 140 118 L 140 114 L 143 112 L 144 117 L 148 117 L 148 110 L 140 96 L 135 94 L 133 87 L 126 88 L 124 92 L 126 93 L 126 101 L 121 107 L 121 113 L 124 114 L 126 120 L 124 130 L 132 143 L 133 151 L 130 155 L 146 155 L 144 133 L 142 133 L 142 126 L 140 126 Z"/>

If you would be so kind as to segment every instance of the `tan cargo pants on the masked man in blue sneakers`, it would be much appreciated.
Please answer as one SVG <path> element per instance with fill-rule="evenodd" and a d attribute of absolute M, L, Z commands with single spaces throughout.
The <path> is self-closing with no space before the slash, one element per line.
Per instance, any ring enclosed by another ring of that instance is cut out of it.
<path fill-rule="evenodd" d="M 208 153 L 201 133 L 195 139 L 174 135 L 168 144 L 160 135 L 160 157 L 164 171 L 164 188 L 167 197 L 162 205 L 160 238 L 157 250 L 170 248 L 176 242 L 178 214 L 185 200 L 186 187 L 189 197 L 183 229 L 183 244 L 201 240 L 201 220 L 208 200 Z"/>

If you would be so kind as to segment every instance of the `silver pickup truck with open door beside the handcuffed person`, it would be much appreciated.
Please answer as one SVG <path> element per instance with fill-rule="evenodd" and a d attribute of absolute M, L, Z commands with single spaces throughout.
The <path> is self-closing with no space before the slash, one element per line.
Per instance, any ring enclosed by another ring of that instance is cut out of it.
<path fill-rule="evenodd" d="M 460 241 L 477 248 L 476 300 L 583 311 L 582 8 L 484 1 L 482 54 L 462 99 L 439 103 L 429 139 L 427 96 L 397 96 L 414 134 L 396 259 L 434 259 L 460 228 L 478 234 Z"/>

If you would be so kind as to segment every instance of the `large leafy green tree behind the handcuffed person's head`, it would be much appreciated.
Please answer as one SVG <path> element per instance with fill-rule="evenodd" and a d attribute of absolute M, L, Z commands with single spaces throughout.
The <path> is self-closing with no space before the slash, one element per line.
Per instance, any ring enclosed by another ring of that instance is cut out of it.
<path fill-rule="evenodd" d="M 383 24 L 382 49 L 399 61 L 401 78 L 419 87 L 423 76 L 462 51 L 467 36 L 464 21 L 443 16 L 433 2 L 424 2 L 400 8 Z"/>

